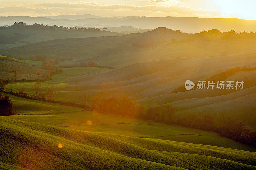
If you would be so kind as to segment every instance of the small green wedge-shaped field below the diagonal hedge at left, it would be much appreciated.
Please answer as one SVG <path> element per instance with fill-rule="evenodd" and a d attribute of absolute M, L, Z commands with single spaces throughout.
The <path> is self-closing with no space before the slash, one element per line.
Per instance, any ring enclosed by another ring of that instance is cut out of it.
<path fill-rule="evenodd" d="M 83 110 L 78 107 L 71 107 L 65 105 L 59 105 L 55 103 L 49 103 L 38 100 L 31 100 L 13 96 L 10 94 L 5 94 L 2 92 L 2 95 L 9 96 L 12 101 L 14 111 L 20 115 L 31 115 L 31 114 L 48 114 L 48 113 L 57 113 L 57 112 L 72 112 Z"/>

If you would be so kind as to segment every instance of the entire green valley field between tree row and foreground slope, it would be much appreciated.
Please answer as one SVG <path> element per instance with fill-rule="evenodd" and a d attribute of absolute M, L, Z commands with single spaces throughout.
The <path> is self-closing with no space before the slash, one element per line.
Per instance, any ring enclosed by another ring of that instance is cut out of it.
<path fill-rule="evenodd" d="M 170 126 L 156 123 L 147 125 L 148 121 L 126 116 L 100 114 L 96 111 L 85 112 L 81 108 L 58 105 L 43 101 L 24 99 L 8 95 L 14 105 L 14 110 L 20 115 L 8 116 L 27 122 L 41 123 L 68 129 L 120 134 L 131 137 L 150 137 L 156 139 L 206 144 L 255 152 L 256 149 L 230 139 L 220 137 L 216 133 Z M 56 114 L 54 114 L 56 113 Z M 40 115 L 43 114 L 43 115 Z M 88 126 L 88 122 L 92 126 Z M 118 124 L 125 122 L 126 124 Z M 185 135 L 184 135 L 185 134 Z"/>

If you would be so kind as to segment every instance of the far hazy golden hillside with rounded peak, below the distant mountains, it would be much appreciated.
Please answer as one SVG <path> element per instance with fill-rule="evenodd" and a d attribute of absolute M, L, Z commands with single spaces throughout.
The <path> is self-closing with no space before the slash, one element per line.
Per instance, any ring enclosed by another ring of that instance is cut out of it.
<path fill-rule="evenodd" d="M 1 53 L 56 55 L 61 60 L 91 59 L 97 63 L 122 67 L 133 63 L 180 57 L 214 57 L 255 53 L 255 38 L 223 39 L 222 34 L 186 34 L 156 28 L 124 36 L 55 39 L 1 50 Z M 75 37 L 75 36 L 73 36 Z M 82 36 L 80 36 L 82 37 Z M 172 43 L 176 39 L 177 43 Z"/>

